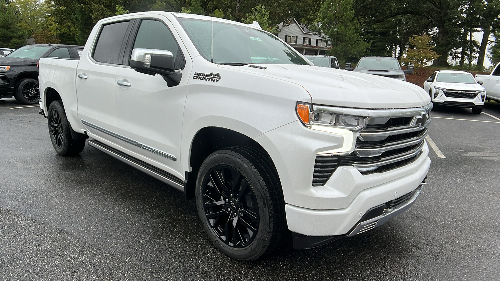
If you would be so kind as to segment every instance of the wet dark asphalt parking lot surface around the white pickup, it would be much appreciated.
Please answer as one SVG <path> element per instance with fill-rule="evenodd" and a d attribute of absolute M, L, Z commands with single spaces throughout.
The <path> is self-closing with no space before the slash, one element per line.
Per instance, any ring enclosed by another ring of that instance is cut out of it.
<path fill-rule="evenodd" d="M 212 246 L 183 193 L 88 145 L 58 156 L 38 110 L 0 100 L 0 280 L 500 279 L 498 104 L 432 110 L 428 184 L 408 211 L 251 263 Z"/>

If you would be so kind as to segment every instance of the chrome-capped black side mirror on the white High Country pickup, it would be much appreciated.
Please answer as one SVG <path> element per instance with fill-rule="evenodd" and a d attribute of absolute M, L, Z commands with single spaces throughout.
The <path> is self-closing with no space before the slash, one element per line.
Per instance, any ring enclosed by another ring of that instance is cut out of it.
<path fill-rule="evenodd" d="M 130 67 L 135 71 L 154 75 L 175 71 L 173 54 L 168 50 L 135 48 L 130 56 Z"/>

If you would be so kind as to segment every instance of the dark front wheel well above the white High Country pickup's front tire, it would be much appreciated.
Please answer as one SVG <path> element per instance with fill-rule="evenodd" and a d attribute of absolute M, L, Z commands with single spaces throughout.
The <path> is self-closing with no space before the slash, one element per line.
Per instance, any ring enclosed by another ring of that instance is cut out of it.
<path fill-rule="evenodd" d="M 189 162 L 192 171 L 186 172 L 184 192 L 186 199 L 194 197 L 196 177 L 198 175 L 199 167 L 203 163 L 203 160 L 208 155 L 217 150 L 237 145 L 248 145 L 255 147 L 262 151 L 267 157 L 269 157 L 277 181 L 280 182 L 276 167 L 274 166 L 271 157 L 258 142 L 242 133 L 230 129 L 221 127 L 204 127 L 196 133 L 192 140 L 189 156 Z"/>

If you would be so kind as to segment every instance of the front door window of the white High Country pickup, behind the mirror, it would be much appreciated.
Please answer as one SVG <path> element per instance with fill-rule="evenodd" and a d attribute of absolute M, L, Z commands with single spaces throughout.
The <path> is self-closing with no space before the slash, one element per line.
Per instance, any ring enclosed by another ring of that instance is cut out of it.
<path fill-rule="evenodd" d="M 184 67 L 184 57 L 177 41 L 166 25 L 158 20 L 146 19 L 140 22 L 133 48 L 169 50 L 173 54 L 175 69 Z"/>

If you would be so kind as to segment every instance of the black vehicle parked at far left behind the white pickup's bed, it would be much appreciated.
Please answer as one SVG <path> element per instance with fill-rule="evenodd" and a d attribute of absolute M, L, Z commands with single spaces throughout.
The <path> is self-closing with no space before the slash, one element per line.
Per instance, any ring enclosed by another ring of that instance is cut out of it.
<path fill-rule="evenodd" d="M 12 95 L 23 104 L 36 104 L 40 99 L 38 67 L 40 57 L 79 59 L 83 46 L 33 44 L 20 47 L 0 57 L 0 98 Z"/>

